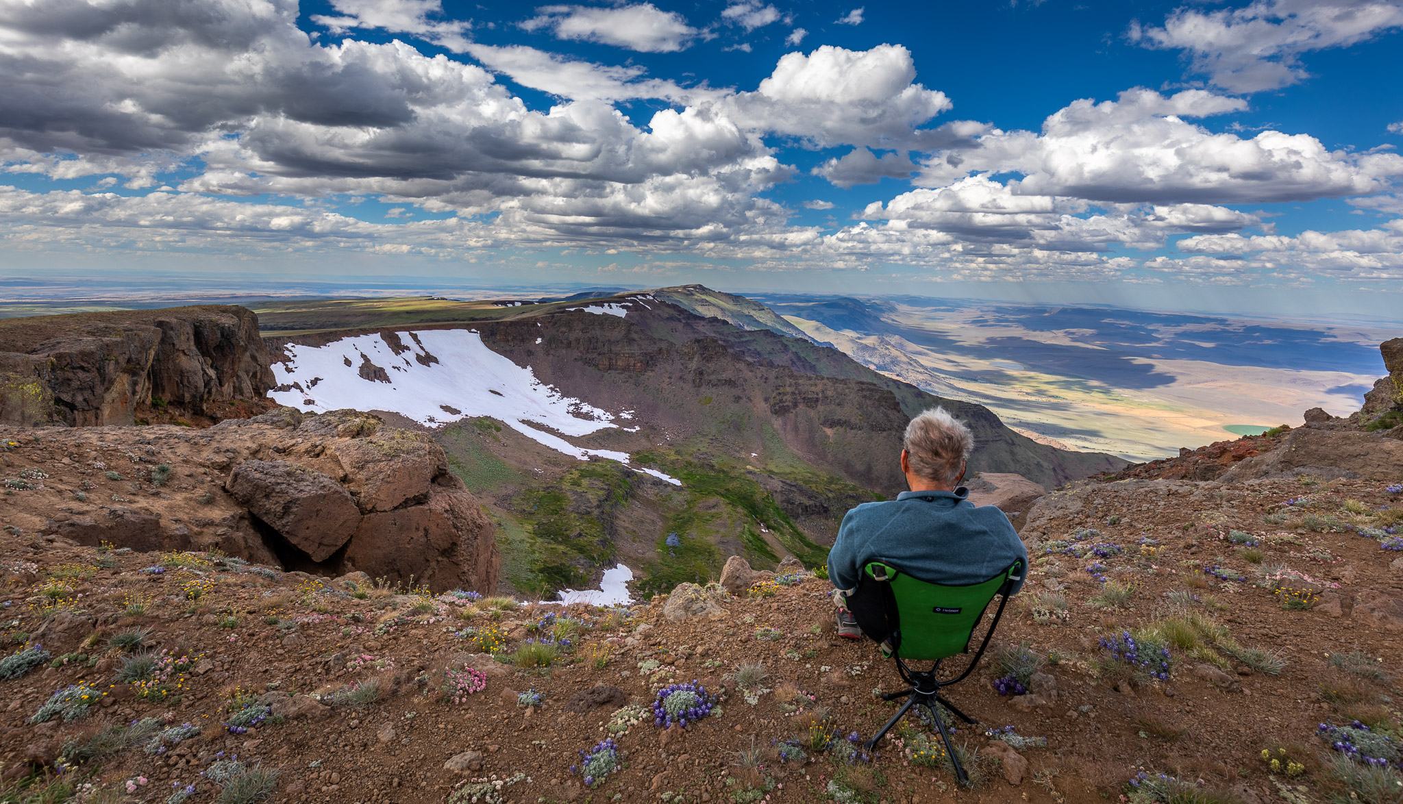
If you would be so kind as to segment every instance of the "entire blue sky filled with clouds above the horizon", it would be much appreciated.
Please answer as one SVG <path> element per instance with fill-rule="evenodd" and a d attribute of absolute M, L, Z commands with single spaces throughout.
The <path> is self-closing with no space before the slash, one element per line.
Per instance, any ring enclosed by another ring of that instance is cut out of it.
<path fill-rule="evenodd" d="M 1378 0 L 0 0 L 0 275 L 1397 320 L 1400 45 Z"/>

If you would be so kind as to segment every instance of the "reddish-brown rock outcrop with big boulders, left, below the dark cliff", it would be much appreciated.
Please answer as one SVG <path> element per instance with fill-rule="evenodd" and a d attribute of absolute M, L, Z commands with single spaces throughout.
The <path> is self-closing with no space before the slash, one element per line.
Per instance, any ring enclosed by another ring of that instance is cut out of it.
<path fill-rule="evenodd" d="M 497 591 L 501 557 L 481 504 L 427 434 L 375 415 L 281 408 L 206 429 L 36 428 L 11 439 L 43 477 L 8 498 L 8 521 L 48 540 L 219 549 L 318 575 Z"/>

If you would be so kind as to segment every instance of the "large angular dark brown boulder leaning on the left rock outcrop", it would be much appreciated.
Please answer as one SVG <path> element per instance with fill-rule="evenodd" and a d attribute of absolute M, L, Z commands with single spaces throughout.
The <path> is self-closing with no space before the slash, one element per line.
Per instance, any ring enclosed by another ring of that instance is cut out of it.
<path fill-rule="evenodd" d="M 325 561 L 361 526 L 361 509 L 334 478 L 288 460 L 246 460 L 224 484 L 248 512 L 313 561 Z"/>

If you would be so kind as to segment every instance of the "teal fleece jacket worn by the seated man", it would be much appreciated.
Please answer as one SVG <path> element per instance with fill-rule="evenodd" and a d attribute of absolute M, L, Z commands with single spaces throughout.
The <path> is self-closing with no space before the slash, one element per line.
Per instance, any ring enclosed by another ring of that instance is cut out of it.
<path fill-rule="evenodd" d="M 962 587 L 979 584 L 1028 551 L 1003 511 L 975 507 L 955 491 L 902 491 L 887 502 L 863 502 L 843 516 L 828 553 L 828 578 L 839 589 L 857 588 L 868 561 L 890 561 L 929 581 Z M 1023 581 L 1013 588 L 1023 587 Z"/>

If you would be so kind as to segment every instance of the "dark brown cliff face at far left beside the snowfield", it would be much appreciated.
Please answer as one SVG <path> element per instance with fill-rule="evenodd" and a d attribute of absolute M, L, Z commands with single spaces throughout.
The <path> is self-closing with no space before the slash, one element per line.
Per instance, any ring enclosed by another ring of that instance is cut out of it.
<path fill-rule="evenodd" d="M 0 321 L 0 421 L 135 424 L 139 411 L 223 418 L 272 387 L 258 319 L 203 304 Z"/>

